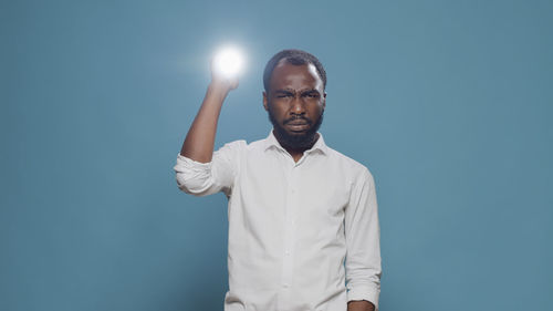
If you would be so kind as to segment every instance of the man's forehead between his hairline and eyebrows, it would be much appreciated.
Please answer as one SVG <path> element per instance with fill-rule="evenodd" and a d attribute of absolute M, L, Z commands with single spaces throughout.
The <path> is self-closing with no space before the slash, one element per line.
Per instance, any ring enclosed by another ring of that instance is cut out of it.
<path fill-rule="evenodd" d="M 271 74 L 269 83 L 271 90 L 279 89 L 320 89 L 323 90 L 323 81 L 319 76 L 316 68 L 306 63 L 294 65 L 285 59 L 279 61 Z"/>

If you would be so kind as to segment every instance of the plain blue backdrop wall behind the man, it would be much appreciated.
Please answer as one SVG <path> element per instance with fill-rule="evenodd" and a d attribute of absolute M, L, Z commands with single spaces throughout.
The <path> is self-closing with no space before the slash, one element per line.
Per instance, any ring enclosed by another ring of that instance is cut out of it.
<path fill-rule="evenodd" d="M 552 310 L 551 1 L 2 1 L 0 310 L 222 310 L 227 200 L 173 166 L 225 42 L 216 147 L 271 128 L 281 49 L 377 183 L 382 310 Z"/>

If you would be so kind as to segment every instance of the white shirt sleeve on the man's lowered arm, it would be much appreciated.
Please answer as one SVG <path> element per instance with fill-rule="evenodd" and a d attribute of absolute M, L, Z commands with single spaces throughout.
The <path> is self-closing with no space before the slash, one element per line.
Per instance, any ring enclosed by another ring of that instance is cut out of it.
<path fill-rule="evenodd" d="M 378 310 L 380 294 L 380 227 L 374 178 L 366 167 L 345 209 L 347 301 L 367 300 Z"/>

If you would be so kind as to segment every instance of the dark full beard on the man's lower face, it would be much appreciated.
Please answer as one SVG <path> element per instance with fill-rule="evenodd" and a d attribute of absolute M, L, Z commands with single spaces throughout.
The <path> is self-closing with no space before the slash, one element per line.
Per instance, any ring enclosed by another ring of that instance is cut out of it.
<path fill-rule="evenodd" d="M 292 149 L 306 149 L 313 146 L 316 138 L 316 132 L 321 127 L 321 124 L 323 124 L 323 115 L 324 110 L 321 112 L 321 115 L 314 123 L 301 116 L 285 120 L 284 124 L 300 118 L 305 121 L 307 125 L 310 125 L 307 131 L 303 133 L 290 134 L 283 126 L 281 126 L 276 122 L 274 115 L 271 113 L 271 110 L 269 110 L 269 121 L 271 121 L 271 123 L 273 124 L 275 136 L 279 138 L 279 143 L 281 143 L 283 147 L 289 147 Z"/>

